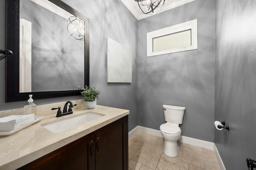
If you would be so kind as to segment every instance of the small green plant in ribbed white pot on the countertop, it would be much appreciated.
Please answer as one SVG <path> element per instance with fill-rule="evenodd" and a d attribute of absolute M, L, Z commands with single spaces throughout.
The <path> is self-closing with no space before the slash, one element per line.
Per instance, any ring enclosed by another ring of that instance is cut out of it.
<path fill-rule="evenodd" d="M 84 101 L 87 102 L 87 108 L 88 109 L 94 109 L 95 108 L 95 100 L 98 99 L 100 91 L 97 90 L 94 87 L 88 87 L 85 86 L 84 90 L 81 92 L 82 96 L 84 96 Z"/>

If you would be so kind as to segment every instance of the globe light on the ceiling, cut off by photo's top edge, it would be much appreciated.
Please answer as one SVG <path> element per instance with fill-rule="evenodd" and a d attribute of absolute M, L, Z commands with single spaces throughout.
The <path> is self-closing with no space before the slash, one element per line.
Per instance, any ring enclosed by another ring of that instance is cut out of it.
<path fill-rule="evenodd" d="M 147 15 L 158 13 L 168 0 L 134 0 L 140 11 Z"/>

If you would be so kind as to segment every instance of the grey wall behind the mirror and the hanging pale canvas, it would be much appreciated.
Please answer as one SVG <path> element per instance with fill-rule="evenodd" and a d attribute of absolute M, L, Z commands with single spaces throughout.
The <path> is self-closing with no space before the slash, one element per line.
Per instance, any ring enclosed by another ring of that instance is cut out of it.
<path fill-rule="evenodd" d="M 137 20 L 120 0 L 64 0 L 90 18 L 90 86 L 101 91 L 97 104 L 129 109 L 129 130 L 137 120 Z M 5 20 L 5 1 L 0 1 L 0 20 Z M 5 24 L 0 24 L 0 49 L 5 49 Z M 107 37 L 132 49 L 132 83 L 107 83 Z M 0 61 L 0 109 L 23 107 L 24 102 L 5 103 L 5 60 Z M 50 104 L 77 100 L 81 96 L 35 100 Z M 63 106 L 62 106 L 63 108 Z"/>

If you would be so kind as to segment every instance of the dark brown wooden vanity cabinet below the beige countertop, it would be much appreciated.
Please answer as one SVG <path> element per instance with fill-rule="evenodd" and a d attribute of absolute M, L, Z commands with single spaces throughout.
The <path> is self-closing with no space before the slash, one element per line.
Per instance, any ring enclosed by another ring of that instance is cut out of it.
<path fill-rule="evenodd" d="M 128 170 L 128 115 L 18 170 Z"/>

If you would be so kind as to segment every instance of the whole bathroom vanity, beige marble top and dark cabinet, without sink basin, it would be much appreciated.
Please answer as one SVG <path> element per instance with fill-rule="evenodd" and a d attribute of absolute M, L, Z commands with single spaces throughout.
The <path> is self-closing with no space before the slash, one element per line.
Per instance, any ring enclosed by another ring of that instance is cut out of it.
<path fill-rule="evenodd" d="M 60 133 L 42 125 L 87 112 L 104 115 Z M 11 136 L 0 137 L 0 169 L 128 169 L 128 114 L 125 109 L 96 106 L 67 117 L 45 116 Z"/>

